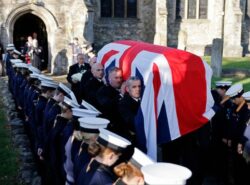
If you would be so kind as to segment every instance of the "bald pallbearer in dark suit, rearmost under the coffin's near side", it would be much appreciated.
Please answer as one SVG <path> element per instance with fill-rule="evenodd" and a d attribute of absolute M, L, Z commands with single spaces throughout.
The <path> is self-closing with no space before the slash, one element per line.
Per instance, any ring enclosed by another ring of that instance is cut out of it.
<path fill-rule="evenodd" d="M 98 109 L 98 103 L 96 100 L 96 92 L 104 86 L 103 83 L 103 76 L 104 76 L 104 69 L 101 63 L 95 63 L 91 67 L 91 73 L 93 77 L 91 77 L 85 85 L 84 94 L 85 99 L 87 102 L 92 104 Z"/>

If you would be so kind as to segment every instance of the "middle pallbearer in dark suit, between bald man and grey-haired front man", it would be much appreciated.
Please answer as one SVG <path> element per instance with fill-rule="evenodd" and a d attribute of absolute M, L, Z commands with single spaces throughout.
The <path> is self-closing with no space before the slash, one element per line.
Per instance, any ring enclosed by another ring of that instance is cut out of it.
<path fill-rule="evenodd" d="M 108 129 L 118 134 L 121 134 L 118 102 L 123 96 L 122 82 L 122 70 L 114 67 L 108 73 L 108 84 L 101 87 L 96 94 L 97 103 L 103 117 L 110 120 Z"/>

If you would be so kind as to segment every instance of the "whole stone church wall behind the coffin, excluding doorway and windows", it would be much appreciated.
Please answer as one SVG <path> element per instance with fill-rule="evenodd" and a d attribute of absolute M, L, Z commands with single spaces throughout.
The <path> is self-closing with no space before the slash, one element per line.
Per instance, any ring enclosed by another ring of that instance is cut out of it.
<path fill-rule="evenodd" d="M 13 25 L 20 15 L 40 17 L 48 33 L 48 69 L 56 74 L 66 73 L 71 64 L 73 37 L 81 44 L 94 41 L 97 50 L 115 40 L 131 39 L 198 55 L 210 54 L 213 39 L 223 37 L 224 56 L 241 56 L 250 50 L 249 1 L 208 0 L 207 19 L 180 19 L 177 0 L 138 0 L 137 18 L 103 18 L 99 0 L 64 0 L 63 4 L 58 0 L 1 0 L 0 39 L 5 46 L 13 42 Z M 86 2 L 91 2 L 91 9 Z M 183 13 L 185 7 L 181 8 Z"/>

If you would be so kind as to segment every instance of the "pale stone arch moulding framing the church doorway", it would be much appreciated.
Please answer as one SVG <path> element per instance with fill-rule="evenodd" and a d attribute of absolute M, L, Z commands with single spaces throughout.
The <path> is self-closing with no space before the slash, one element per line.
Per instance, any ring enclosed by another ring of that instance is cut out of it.
<path fill-rule="evenodd" d="M 24 4 L 21 6 L 18 6 L 14 8 L 8 15 L 6 21 L 5 21 L 5 31 L 6 36 L 8 37 L 8 42 L 13 42 L 13 31 L 14 31 L 14 24 L 16 20 L 18 20 L 22 15 L 31 13 L 33 15 L 36 15 L 39 17 L 45 24 L 47 33 L 48 33 L 48 70 L 51 70 L 52 65 L 51 61 L 54 58 L 52 53 L 55 53 L 54 43 L 56 42 L 56 34 L 58 31 L 60 31 L 60 27 L 58 24 L 58 21 L 56 17 L 53 15 L 53 13 L 46 9 L 45 7 L 29 3 Z"/>

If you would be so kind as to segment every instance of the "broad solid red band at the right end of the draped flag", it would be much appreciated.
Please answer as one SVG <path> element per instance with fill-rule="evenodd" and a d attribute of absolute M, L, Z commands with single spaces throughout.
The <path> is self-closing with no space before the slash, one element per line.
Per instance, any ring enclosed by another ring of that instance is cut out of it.
<path fill-rule="evenodd" d="M 181 50 L 164 53 L 172 72 L 176 113 L 181 135 L 200 128 L 207 119 L 206 71 L 200 57 Z"/>

